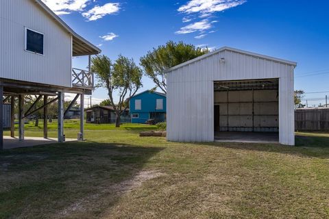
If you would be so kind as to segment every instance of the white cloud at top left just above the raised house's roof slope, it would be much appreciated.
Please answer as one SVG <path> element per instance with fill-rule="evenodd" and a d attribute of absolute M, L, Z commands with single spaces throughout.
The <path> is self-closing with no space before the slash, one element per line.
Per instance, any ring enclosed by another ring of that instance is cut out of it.
<path fill-rule="evenodd" d="M 56 14 L 70 14 L 82 11 L 90 0 L 42 0 Z"/>

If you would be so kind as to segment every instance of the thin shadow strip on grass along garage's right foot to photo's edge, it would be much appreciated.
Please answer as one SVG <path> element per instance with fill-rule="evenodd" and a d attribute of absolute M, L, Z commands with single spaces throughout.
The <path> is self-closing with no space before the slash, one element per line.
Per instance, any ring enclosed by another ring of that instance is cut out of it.
<path fill-rule="evenodd" d="M 329 138 L 326 137 L 296 136 L 295 146 L 242 142 L 214 142 L 206 144 L 229 149 L 283 153 L 301 157 L 317 157 L 321 159 L 329 158 Z"/>

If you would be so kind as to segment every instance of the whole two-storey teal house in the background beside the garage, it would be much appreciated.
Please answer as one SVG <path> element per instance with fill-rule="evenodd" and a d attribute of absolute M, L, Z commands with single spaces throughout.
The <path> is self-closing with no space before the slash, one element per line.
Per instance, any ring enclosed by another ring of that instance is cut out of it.
<path fill-rule="evenodd" d="M 130 99 L 132 123 L 161 123 L 166 120 L 166 94 L 145 90 Z"/>

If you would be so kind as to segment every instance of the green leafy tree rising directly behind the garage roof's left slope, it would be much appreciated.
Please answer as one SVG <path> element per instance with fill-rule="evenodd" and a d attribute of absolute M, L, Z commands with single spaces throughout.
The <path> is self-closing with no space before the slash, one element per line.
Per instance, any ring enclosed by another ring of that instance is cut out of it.
<path fill-rule="evenodd" d="M 140 61 L 145 75 L 156 83 L 154 90 L 160 88 L 162 92 L 167 93 L 166 71 L 208 52 L 208 48 L 201 49 L 193 44 L 169 41 L 153 51 L 148 51 Z"/>

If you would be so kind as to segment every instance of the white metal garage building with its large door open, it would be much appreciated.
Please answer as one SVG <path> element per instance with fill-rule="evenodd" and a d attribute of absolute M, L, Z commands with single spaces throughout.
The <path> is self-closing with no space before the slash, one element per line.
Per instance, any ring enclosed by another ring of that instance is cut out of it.
<path fill-rule="evenodd" d="M 223 47 L 167 72 L 167 139 L 295 144 L 295 62 Z"/>

